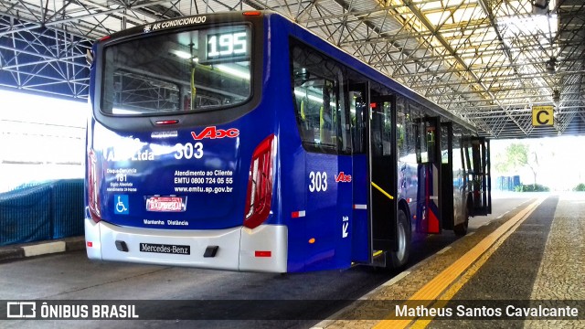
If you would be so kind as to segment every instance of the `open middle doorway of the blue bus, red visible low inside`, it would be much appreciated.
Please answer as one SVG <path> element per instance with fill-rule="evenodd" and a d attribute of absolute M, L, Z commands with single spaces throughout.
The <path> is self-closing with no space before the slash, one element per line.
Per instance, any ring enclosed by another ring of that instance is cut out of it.
<path fill-rule="evenodd" d="M 418 190 L 416 230 L 441 233 L 441 122 L 439 117 L 415 121 Z"/>

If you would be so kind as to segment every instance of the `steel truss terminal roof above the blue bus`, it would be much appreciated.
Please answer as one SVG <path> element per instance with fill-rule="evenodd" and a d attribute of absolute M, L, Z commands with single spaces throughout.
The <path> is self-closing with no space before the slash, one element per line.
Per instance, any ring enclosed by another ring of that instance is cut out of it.
<path fill-rule="evenodd" d="M 87 97 L 90 41 L 231 10 L 288 16 L 495 138 L 585 133 L 582 0 L 0 0 L 0 87 Z M 534 106 L 554 126 L 534 127 Z"/>

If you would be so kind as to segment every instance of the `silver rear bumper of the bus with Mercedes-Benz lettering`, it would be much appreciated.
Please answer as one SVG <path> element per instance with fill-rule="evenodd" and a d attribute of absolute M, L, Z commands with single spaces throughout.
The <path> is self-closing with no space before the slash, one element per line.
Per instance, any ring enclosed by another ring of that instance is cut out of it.
<path fill-rule="evenodd" d="M 206 230 L 177 230 L 119 227 L 85 219 L 86 246 L 92 260 L 129 261 L 158 265 L 189 266 L 231 271 L 285 272 L 287 260 L 287 228 L 264 225 Z M 128 251 L 116 248 L 123 241 Z M 86 242 L 86 243 L 87 243 Z M 141 251 L 141 243 L 189 246 L 190 254 Z M 209 246 L 218 246 L 215 257 L 203 257 Z M 241 252 L 240 252 L 241 251 Z M 260 257 L 256 251 L 261 251 Z M 266 257 L 270 251 L 270 257 Z"/>

